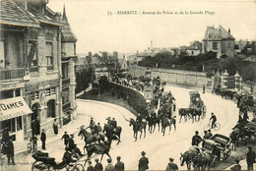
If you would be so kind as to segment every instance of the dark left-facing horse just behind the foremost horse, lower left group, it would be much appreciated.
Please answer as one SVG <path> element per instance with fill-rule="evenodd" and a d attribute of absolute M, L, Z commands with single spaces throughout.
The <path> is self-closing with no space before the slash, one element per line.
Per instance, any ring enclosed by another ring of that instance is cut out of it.
<path fill-rule="evenodd" d="M 101 134 L 98 134 L 97 136 L 93 135 L 92 133 L 87 132 L 87 130 L 84 128 L 80 129 L 78 136 L 84 136 L 85 138 L 84 140 L 86 144 L 90 144 L 93 142 L 100 142 L 100 141 L 104 142 L 104 138 L 105 138 L 105 136 Z"/>

